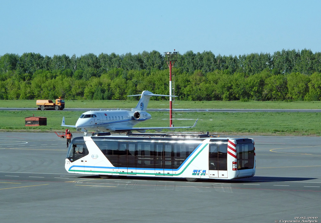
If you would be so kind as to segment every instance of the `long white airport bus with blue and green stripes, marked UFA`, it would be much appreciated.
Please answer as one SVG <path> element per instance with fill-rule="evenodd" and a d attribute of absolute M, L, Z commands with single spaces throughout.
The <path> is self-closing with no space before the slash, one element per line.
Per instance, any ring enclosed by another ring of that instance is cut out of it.
<path fill-rule="evenodd" d="M 250 138 L 209 135 L 131 134 L 83 136 L 72 140 L 69 173 L 110 176 L 235 179 L 255 174 Z"/>

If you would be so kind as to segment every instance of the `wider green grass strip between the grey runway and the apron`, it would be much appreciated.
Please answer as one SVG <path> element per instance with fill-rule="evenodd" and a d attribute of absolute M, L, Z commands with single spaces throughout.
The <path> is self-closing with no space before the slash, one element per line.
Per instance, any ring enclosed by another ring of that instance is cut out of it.
<path fill-rule="evenodd" d="M 63 132 L 65 127 L 60 126 L 62 117 L 65 116 L 67 125 L 74 125 L 82 113 L 82 111 L 0 111 L 0 131 Z M 169 126 L 168 112 L 150 112 L 150 114 L 152 119 L 135 127 Z M 47 126 L 25 126 L 24 118 L 33 115 L 47 117 Z M 209 131 L 217 135 L 321 135 L 318 122 L 321 113 L 181 112 L 174 113 L 173 118 L 174 126 L 191 126 L 198 118 L 195 128 L 180 130 L 188 132 Z M 71 130 L 75 132 L 74 129 Z"/>

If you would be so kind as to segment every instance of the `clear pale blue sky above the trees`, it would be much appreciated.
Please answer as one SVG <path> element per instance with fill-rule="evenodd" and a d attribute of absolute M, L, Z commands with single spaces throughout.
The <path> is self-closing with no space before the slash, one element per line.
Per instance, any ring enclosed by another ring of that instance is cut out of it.
<path fill-rule="evenodd" d="M 0 55 L 215 55 L 321 51 L 321 1 L 83 1 L 0 3 Z"/>

